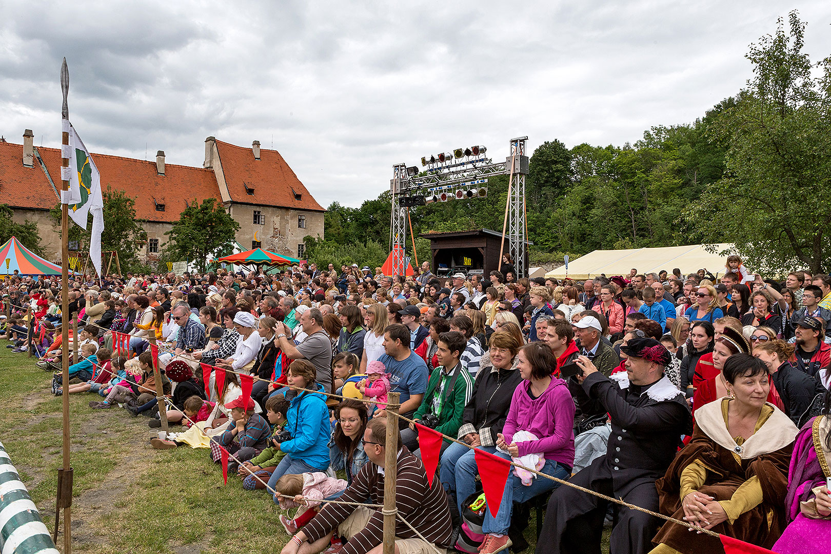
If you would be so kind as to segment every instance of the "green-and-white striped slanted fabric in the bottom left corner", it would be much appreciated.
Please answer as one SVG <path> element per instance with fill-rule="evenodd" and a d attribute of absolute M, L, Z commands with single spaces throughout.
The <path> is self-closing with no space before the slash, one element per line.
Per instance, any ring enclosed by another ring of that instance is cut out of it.
<path fill-rule="evenodd" d="M 41 514 L 0 443 L 0 554 L 58 554 Z"/>

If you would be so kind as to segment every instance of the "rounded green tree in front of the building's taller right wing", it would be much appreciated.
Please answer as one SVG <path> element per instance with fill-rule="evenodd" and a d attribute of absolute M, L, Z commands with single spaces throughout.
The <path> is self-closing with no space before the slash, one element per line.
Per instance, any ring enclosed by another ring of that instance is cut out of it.
<path fill-rule="evenodd" d="M 204 272 L 208 258 L 227 256 L 234 250 L 239 223 L 231 218 L 216 199 L 194 199 L 179 221 L 165 235 L 170 237 L 165 251 L 179 260 L 194 262 Z"/>

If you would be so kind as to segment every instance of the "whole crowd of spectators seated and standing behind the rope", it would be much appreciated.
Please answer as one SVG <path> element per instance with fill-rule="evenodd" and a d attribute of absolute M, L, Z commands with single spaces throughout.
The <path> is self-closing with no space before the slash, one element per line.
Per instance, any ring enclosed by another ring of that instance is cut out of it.
<path fill-rule="evenodd" d="M 283 554 L 381 552 L 383 514 L 349 503 L 382 504 L 385 471 L 418 530 L 396 524 L 399 554 L 519 552 L 529 503 L 545 498 L 538 554 L 601 552 L 609 526 L 611 552 L 723 552 L 696 529 L 780 554 L 824 548 L 831 276 L 763 279 L 731 256 L 720 278 L 633 268 L 529 280 L 503 261 L 503 272 L 445 277 L 426 262 L 408 277 L 314 263 L 128 273 L 73 277 L 66 291 L 54 277 L 14 276 L 0 285 L 0 333 L 37 355 L 54 394 L 95 395 L 91 409 L 121 406 L 151 428 L 155 342 L 174 427 L 151 444 L 208 448 L 215 462 L 233 454 L 243 489 L 297 508 L 279 517 L 292 537 Z M 240 375 L 259 379 L 250 398 Z M 396 468 L 386 468 L 390 392 L 406 416 Z M 434 475 L 407 419 L 445 435 Z M 495 512 L 476 449 L 522 466 Z"/>

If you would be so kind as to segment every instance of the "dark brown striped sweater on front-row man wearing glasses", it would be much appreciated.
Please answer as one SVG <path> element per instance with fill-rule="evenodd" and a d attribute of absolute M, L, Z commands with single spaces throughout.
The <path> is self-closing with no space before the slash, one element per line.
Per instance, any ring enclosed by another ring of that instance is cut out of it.
<path fill-rule="evenodd" d="M 452 523 L 450 507 L 447 503 L 445 488 L 441 486 L 436 473 L 433 486 L 427 483 L 424 465 L 406 446 L 398 453 L 398 472 L 396 475 L 396 507 L 401 517 L 419 530 L 428 541 L 440 547 L 450 547 Z M 352 480 L 352 484 L 342 494 L 343 502 L 383 504 L 384 473 L 375 463 L 366 463 Z M 355 511 L 354 506 L 344 504 L 327 504 L 311 522 L 303 527 L 309 542 L 326 537 Z M 342 554 L 365 554 L 381 544 L 383 539 L 384 516 L 377 509 L 363 531 L 347 543 Z M 400 520 L 396 522 L 396 537 L 418 538 Z"/>

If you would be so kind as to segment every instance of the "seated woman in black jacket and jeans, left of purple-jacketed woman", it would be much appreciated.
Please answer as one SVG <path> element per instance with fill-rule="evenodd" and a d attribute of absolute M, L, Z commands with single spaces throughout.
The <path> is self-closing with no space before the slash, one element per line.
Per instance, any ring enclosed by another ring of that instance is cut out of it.
<path fill-rule="evenodd" d="M 496 452 L 497 434 L 502 433 L 514 390 L 522 381 L 516 360 L 520 346 L 518 338 L 508 331 L 496 331 L 490 337 L 490 348 L 482 356 L 482 369 L 476 375 L 458 433 L 459 439 L 472 447 Z M 476 460 L 472 449 L 453 443 L 441 454 L 440 477 L 450 501 L 459 506 L 475 489 L 465 479 L 459 487 L 457 473 L 462 477 L 475 474 Z"/>

